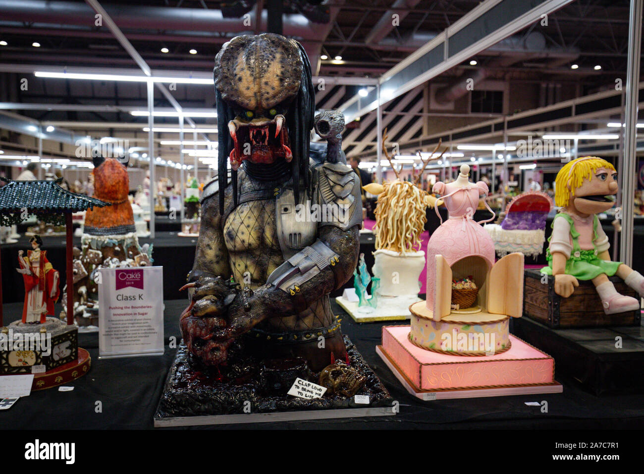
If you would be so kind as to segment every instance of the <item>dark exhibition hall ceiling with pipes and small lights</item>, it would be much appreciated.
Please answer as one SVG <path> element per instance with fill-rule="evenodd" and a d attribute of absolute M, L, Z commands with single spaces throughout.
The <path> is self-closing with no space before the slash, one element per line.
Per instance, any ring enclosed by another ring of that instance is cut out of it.
<path fill-rule="evenodd" d="M 284 2 L 283 32 L 303 44 L 314 74 L 317 70 L 317 75 L 324 77 L 374 78 L 479 4 L 449 0 L 333 0 L 324 4 L 291 0 Z M 263 0 L 236 3 L 109 0 L 100 5 L 151 68 L 173 73 L 211 72 L 214 56 L 225 41 L 234 35 L 266 30 L 267 23 L 267 2 Z M 0 12 L 0 65 L 40 64 L 87 70 L 132 68 L 140 72 L 108 28 L 97 26 L 95 11 L 82 0 L 0 0 Z M 446 117 L 442 128 L 458 128 L 484 116 L 513 114 L 604 90 L 614 83 L 615 77 L 626 74 L 628 17 L 627 0 L 573 1 L 549 14 L 545 22 L 533 23 L 437 77 L 434 82 L 440 87 L 451 86 L 450 90 L 440 92 L 438 99 L 449 93 L 455 105 L 443 107 L 445 101 L 438 100 L 442 105 L 431 110 L 433 95 L 428 97 L 429 88 L 424 91 L 419 86 L 386 104 L 383 126 L 393 129 L 390 139 L 405 143 L 421 135 L 442 132 L 432 128 L 432 117 Z M 24 75 L 0 72 L 3 83 L 0 102 L 146 107 L 144 83 L 43 80 L 28 75 L 30 86 L 21 90 Z M 459 99 L 464 94 L 457 89 L 459 79 L 464 77 L 497 84 L 492 88 L 504 90 L 506 98 L 498 98 L 500 109 L 493 103 L 474 104 L 478 99 L 468 94 L 469 102 L 461 110 Z M 536 102 L 507 101 L 508 96 L 516 95 L 517 88 L 524 87 L 542 97 Z M 359 85 L 331 84 L 317 90 L 317 106 L 341 106 L 360 89 Z M 173 97 L 184 108 L 214 107 L 212 86 L 177 84 Z M 162 94 L 155 95 L 155 107 L 169 106 Z M 428 107 L 432 112 L 429 123 L 422 116 Z M 79 131 L 82 125 L 73 123 L 146 123 L 146 117 L 99 108 L 15 112 Z M 344 134 L 350 155 L 375 150 L 375 112 L 360 119 L 359 126 L 354 124 Z M 176 119 L 163 117 L 155 121 L 176 124 Z M 216 120 L 194 121 L 214 124 Z"/>

